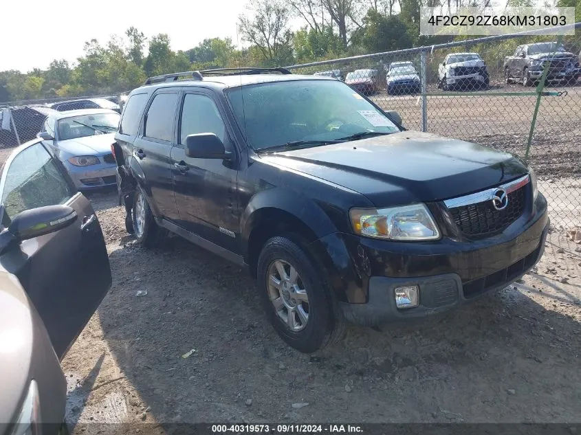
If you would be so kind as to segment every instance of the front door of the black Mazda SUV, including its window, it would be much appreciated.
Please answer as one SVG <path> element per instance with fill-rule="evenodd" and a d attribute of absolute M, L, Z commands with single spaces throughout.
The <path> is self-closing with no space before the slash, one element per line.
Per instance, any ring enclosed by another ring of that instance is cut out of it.
<path fill-rule="evenodd" d="M 239 251 L 237 152 L 223 122 L 223 113 L 206 93 L 185 93 L 179 111 L 177 144 L 171 161 L 179 225 L 232 252 Z M 186 137 L 215 133 L 232 159 L 186 157 Z"/>

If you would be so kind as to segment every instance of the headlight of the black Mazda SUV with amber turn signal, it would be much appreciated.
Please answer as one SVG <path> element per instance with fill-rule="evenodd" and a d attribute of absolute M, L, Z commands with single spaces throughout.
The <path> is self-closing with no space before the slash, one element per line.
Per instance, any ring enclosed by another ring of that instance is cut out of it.
<path fill-rule="evenodd" d="M 432 214 L 424 204 L 393 208 L 349 210 L 355 234 L 397 241 L 434 240 L 440 237 Z"/>

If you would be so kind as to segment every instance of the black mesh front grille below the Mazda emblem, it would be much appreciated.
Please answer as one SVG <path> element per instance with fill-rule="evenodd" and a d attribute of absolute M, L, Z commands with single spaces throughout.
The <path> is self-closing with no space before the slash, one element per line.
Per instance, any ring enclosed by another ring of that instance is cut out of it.
<path fill-rule="evenodd" d="M 516 221 L 525 209 L 525 187 L 508 194 L 508 205 L 496 210 L 492 200 L 450 208 L 450 213 L 460 231 L 466 236 L 483 237 L 503 231 Z"/>

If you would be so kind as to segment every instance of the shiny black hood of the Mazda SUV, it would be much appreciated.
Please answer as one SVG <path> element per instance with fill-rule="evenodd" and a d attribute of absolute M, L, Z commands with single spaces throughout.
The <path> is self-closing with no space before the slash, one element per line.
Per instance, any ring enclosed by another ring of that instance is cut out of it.
<path fill-rule="evenodd" d="M 378 207 L 459 197 L 527 173 L 522 161 L 507 153 L 415 131 L 261 159 L 360 192 Z"/>

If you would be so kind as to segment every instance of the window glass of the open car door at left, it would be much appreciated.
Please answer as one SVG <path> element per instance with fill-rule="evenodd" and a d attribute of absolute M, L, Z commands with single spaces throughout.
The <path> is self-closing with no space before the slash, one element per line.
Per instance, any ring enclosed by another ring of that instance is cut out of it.
<path fill-rule="evenodd" d="M 5 171 L 3 226 L 7 226 L 12 217 L 24 210 L 63 204 L 74 194 L 40 143 L 21 151 Z"/>

